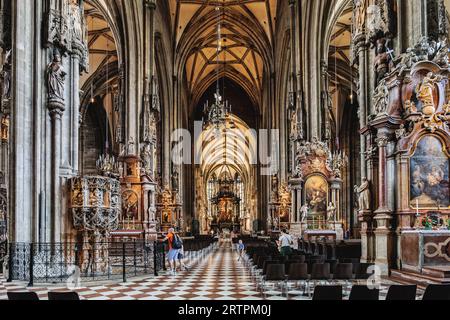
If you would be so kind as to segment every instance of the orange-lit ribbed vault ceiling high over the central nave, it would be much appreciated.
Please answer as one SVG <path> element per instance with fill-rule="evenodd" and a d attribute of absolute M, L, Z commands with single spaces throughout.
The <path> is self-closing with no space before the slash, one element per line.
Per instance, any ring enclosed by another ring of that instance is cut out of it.
<path fill-rule="evenodd" d="M 169 0 L 174 43 L 197 98 L 227 76 L 250 95 L 261 91 L 278 0 Z M 218 24 L 221 24 L 217 53 Z"/>

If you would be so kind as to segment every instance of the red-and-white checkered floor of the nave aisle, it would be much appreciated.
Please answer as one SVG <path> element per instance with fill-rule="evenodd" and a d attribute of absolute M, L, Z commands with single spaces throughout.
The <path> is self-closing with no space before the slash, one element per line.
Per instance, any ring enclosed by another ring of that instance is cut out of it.
<path fill-rule="evenodd" d="M 308 300 L 302 294 L 282 297 L 276 290 L 261 295 L 248 269 L 238 261 L 237 253 L 227 243 L 210 254 L 194 257 L 189 264 L 190 271 L 176 276 L 165 274 L 128 283 L 85 284 L 76 291 L 82 300 Z M 26 290 L 46 300 L 48 291 L 66 291 L 67 288 L 26 288 L 26 284 L 6 283 L 0 279 L 0 300 L 7 299 L 7 291 Z M 383 286 L 382 298 L 386 292 L 387 286 Z"/>

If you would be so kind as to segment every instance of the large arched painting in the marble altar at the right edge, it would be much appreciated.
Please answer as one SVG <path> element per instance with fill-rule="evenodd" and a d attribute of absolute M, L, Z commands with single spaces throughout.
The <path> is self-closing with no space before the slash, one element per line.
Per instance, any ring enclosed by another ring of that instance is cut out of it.
<path fill-rule="evenodd" d="M 410 160 L 410 204 L 412 208 L 450 207 L 449 158 L 443 143 L 425 136 Z"/>

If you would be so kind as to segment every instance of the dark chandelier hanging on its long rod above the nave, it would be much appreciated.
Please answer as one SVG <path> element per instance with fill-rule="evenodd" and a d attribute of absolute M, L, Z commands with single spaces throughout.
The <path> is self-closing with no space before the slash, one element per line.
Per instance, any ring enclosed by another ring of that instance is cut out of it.
<path fill-rule="evenodd" d="M 220 131 L 221 128 L 226 128 L 226 121 L 230 114 L 231 108 L 228 104 L 228 101 L 224 101 L 221 93 L 220 93 L 220 54 L 222 52 L 222 24 L 221 24 L 221 12 L 220 7 L 216 8 L 218 13 L 218 24 L 217 24 L 217 86 L 216 93 L 214 94 L 214 103 L 209 105 L 207 101 L 204 107 L 204 116 L 203 118 L 203 128 L 206 130 L 208 127 L 213 126 L 217 132 Z M 225 54 L 225 51 L 224 51 Z M 226 67 L 226 59 L 224 59 L 224 69 Z"/>

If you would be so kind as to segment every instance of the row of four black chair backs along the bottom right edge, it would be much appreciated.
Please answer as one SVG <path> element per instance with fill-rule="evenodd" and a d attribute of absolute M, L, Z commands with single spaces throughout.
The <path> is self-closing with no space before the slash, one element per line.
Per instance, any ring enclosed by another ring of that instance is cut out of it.
<path fill-rule="evenodd" d="M 313 300 L 339 301 L 343 300 L 342 286 L 317 286 L 314 290 Z M 417 286 L 392 285 L 386 295 L 386 301 L 415 301 L 417 299 Z M 352 287 L 349 300 L 376 301 L 380 300 L 379 289 L 356 285 Z M 429 285 L 422 296 L 423 301 L 450 301 L 449 285 Z"/>

